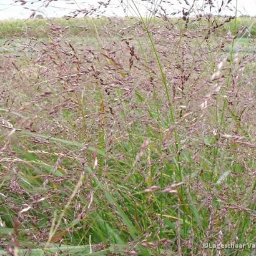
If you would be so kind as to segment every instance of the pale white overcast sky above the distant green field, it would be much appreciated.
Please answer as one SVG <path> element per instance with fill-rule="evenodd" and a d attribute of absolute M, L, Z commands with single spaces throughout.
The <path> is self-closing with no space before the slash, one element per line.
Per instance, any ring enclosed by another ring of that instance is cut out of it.
<path fill-rule="evenodd" d="M 50 2 L 49 2 L 50 1 Z M 42 14 L 44 17 L 62 17 L 69 15 L 70 12 L 76 11 L 77 9 L 89 9 L 90 6 L 99 6 L 98 2 L 107 2 L 108 0 L 0 0 L 0 19 L 27 19 L 31 16 L 31 9 L 36 11 L 36 14 Z M 110 0 L 109 6 L 104 9 L 101 8 L 105 16 L 126 16 L 124 9 L 127 5 L 132 6 L 132 0 Z M 167 9 L 167 12 L 181 11 L 183 7 L 189 7 L 185 4 L 185 0 L 151 0 L 155 6 L 162 2 L 162 6 Z M 220 6 L 222 0 L 212 0 L 216 7 Z M 224 0 L 224 5 L 228 0 Z M 21 5 L 21 3 L 24 3 Z M 44 7 L 49 2 L 48 7 Z M 122 2 L 122 7 L 121 7 Z M 139 11 L 146 14 L 146 6 L 149 1 L 135 0 Z M 170 2 L 170 3 L 166 3 Z M 193 0 L 187 0 L 189 4 Z M 202 6 L 205 0 L 196 0 L 195 4 L 197 7 Z M 234 15 L 234 6 L 237 2 L 238 14 L 246 14 L 250 16 L 256 16 L 256 0 L 232 0 L 231 5 L 233 10 L 225 8 L 221 12 L 223 15 Z M 208 8 L 209 9 L 209 8 Z M 129 15 L 134 16 L 132 8 L 129 8 Z"/>

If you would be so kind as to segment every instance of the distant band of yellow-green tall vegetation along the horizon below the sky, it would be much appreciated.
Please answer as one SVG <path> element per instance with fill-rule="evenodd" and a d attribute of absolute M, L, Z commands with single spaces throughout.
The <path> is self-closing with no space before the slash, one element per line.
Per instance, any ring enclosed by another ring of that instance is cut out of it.
<path fill-rule="evenodd" d="M 122 22 L 126 24 L 132 24 L 133 19 L 122 19 Z M 212 20 L 207 20 L 207 17 L 194 17 L 192 21 L 188 23 L 189 29 L 198 29 L 199 27 L 216 26 L 216 24 L 222 24 L 227 20 L 227 17 L 215 17 Z M 82 36 L 86 33 L 92 33 L 95 36 L 94 25 L 96 24 L 97 29 L 101 31 L 102 27 L 110 22 L 116 22 L 115 18 L 112 17 L 101 17 L 101 18 L 52 18 L 52 19 L 27 19 L 24 20 L 6 20 L 0 21 L 0 38 L 6 37 L 20 37 L 34 36 L 34 37 L 46 37 L 51 32 L 52 26 L 56 26 L 59 29 L 67 29 L 71 36 Z M 122 22 L 118 22 L 120 27 L 124 25 Z M 151 24 L 162 23 L 162 19 L 154 18 L 151 19 Z M 185 21 L 178 18 L 171 18 L 169 22 L 175 24 L 176 27 L 183 27 Z M 213 24 L 212 24 L 213 22 Z M 217 25 L 217 26 L 218 26 Z M 218 34 L 227 34 L 229 31 L 232 34 L 237 33 L 237 29 L 247 28 L 246 31 L 239 36 L 252 37 L 256 36 L 256 17 L 237 17 L 237 19 L 231 19 L 229 22 L 224 23 L 225 26 L 217 27 Z M 87 31 L 87 32 L 86 32 Z M 85 33 L 86 32 L 86 33 Z"/>

